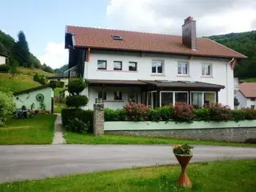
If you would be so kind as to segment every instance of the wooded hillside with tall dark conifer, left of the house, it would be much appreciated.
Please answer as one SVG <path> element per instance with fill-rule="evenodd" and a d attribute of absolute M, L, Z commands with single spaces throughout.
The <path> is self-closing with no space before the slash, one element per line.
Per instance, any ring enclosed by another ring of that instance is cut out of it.
<path fill-rule="evenodd" d="M 9 34 L 0 30 L 0 53 L 9 55 L 10 64 L 17 63 L 18 66 L 34 67 L 45 72 L 54 73 L 53 69 L 46 64 L 41 64 L 36 56 L 29 51 L 29 43 L 26 41 L 23 31 L 18 32 L 18 41 L 15 42 Z"/>

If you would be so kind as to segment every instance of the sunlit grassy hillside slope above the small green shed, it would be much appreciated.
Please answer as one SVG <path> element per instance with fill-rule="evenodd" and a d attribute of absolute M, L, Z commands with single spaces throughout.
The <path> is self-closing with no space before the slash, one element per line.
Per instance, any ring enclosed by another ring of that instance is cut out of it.
<path fill-rule="evenodd" d="M 12 80 L 12 75 L 7 73 L 0 73 L 0 87 L 9 88 L 10 91 L 23 91 L 28 88 L 40 86 L 39 82 L 35 82 L 32 76 L 17 74 Z"/>

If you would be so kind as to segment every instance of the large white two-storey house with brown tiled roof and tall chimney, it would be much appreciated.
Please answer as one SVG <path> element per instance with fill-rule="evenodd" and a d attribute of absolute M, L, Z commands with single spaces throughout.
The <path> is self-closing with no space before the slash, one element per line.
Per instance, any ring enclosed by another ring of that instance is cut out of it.
<path fill-rule="evenodd" d="M 184 20 L 182 36 L 67 26 L 69 68 L 76 67 L 95 99 L 122 108 L 129 101 L 159 107 L 185 101 L 233 108 L 233 67 L 245 55 L 207 38 L 197 38 L 195 20 Z"/>

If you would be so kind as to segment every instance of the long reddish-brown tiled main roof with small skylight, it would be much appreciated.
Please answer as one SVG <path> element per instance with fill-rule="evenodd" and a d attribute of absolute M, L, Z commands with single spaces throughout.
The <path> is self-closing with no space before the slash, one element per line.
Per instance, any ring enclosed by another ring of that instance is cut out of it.
<path fill-rule="evenodd" d="M 200 55 L 219 58 L 246 58 L 245 55 L 237 53 L 208 38 L 197 38 L 197 50 L 192 50 L 182 44 L 181 36 L 167 34 L 150 34 L 78 26 L 67 26 L 67 33 L 74 35 L 75 47 Z M 114 40 L 111 37 L 112 35 L 119 36 L 123 40 Z"/>

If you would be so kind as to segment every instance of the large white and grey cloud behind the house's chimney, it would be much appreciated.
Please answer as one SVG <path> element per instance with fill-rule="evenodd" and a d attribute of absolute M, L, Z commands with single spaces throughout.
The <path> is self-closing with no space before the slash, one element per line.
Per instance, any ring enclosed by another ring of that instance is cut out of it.
<path fill-rule="evenodd" d="M 180 35 L 192 16 L 200 37 L 253 30 L 255 12 L 255 0 L 112 0 L 105 19 L 109 28 Z"/>

